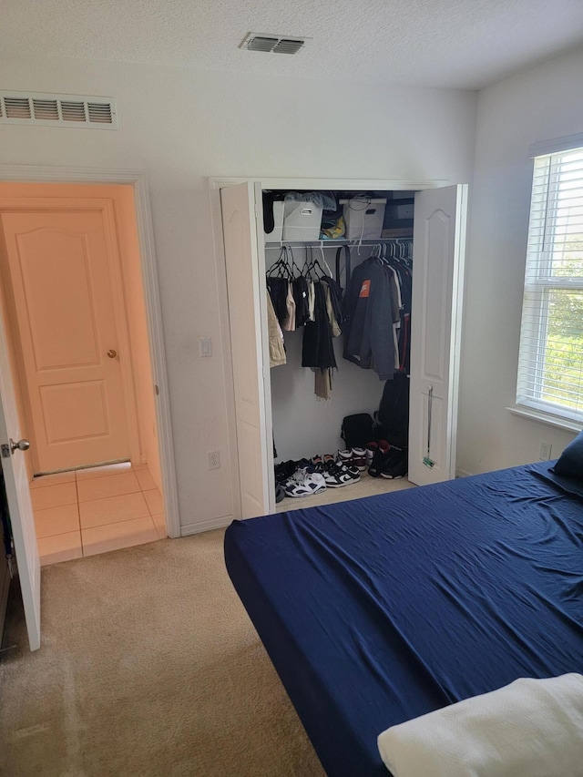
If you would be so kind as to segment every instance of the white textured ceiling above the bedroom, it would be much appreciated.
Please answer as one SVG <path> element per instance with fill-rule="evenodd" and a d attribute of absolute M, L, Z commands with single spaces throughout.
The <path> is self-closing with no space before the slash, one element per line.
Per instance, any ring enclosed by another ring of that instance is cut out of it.
<path fill-rule="evenodd" d="M 480 88 L 583 42 L 583 0 L 4 0 L 3 55 Z M 238 48 L 309 36 L 300 54 Z"/>

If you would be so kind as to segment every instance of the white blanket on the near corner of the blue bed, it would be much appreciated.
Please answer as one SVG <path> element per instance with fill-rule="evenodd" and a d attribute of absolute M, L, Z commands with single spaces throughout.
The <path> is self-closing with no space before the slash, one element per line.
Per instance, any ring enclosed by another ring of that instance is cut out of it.
<path fill-rule="evenodd" d="M 394 777 L 582 777 L 583 675 L 505 688 L 378 737 Z"/>

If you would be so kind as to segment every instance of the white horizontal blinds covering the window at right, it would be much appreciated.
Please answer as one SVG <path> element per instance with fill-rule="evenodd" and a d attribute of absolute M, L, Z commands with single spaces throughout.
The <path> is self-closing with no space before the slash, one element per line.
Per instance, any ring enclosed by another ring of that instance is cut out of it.
<path fill-rule="evenodd" d="M 535 158 L 517 405 L 583 423 L 583 148 Z"/>

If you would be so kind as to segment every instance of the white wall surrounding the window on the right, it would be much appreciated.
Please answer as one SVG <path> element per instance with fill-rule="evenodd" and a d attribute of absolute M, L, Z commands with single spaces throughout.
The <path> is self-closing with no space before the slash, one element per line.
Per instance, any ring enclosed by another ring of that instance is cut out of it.
<path fill-rule="evenodd" d="M 572 433 L 510 414 L 532 179 L 530 143 L 583 131 L 583 51 L 479 94 L 466 269 L 458 466 L 477 473 L 560 455 Z"/>

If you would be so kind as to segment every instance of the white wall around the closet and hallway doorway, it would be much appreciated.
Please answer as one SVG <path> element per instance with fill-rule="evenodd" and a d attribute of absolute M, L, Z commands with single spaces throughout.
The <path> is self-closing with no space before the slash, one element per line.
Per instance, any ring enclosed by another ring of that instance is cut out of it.
<path fill-rule="evenodd" d="M 476 95 L 0 56 L 2 87 L 115 97 L 120 129 L 0 127 L 0 162 L 147 169 L 185 532 L 232 513 L 209 176 L 471 179 Z M 198 338 L 213 340 L 199 359 Z M 207 453 L 223 466 L 208 471 Z M 315 451 L 314 451 L 315 453 Z"/>

